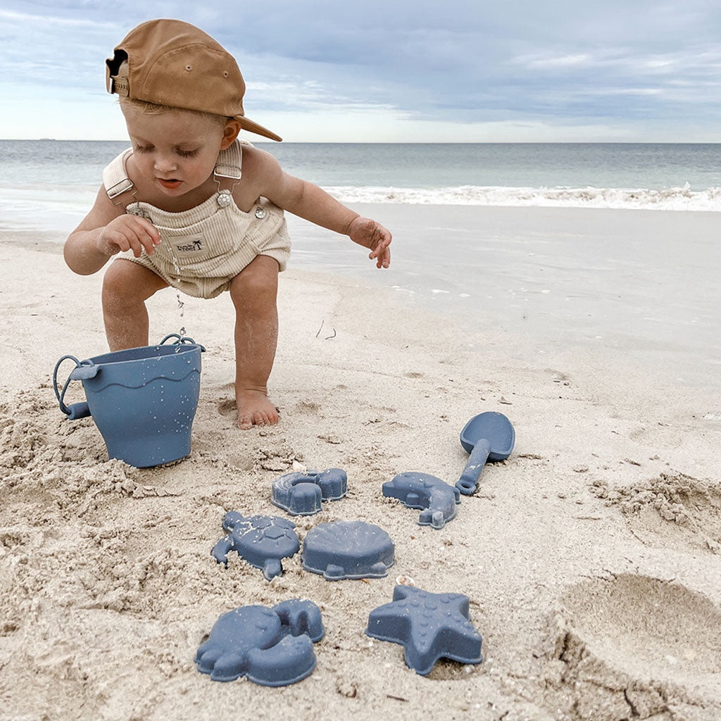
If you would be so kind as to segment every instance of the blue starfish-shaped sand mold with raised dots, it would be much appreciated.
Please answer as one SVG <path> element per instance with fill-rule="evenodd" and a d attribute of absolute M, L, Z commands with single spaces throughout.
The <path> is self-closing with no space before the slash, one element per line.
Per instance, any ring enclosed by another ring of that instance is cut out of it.
<path fill-rule="evenodd" d="M 480 663 L 481 634 L 469 617 L 462 593 L 429 593 L 397 585 L 393 601 L 368 616 L 366 634 L 404 647 L 406 665 L 425 676 L 439 658 Z"/>

